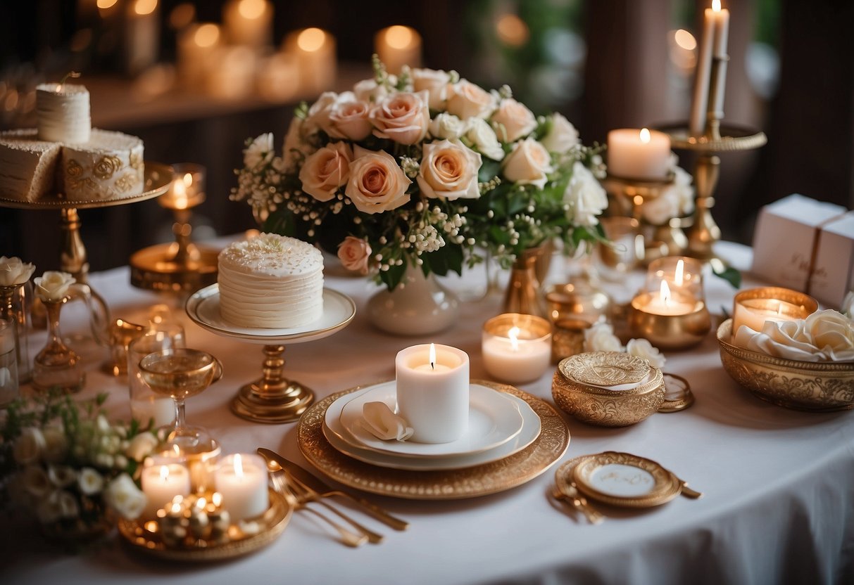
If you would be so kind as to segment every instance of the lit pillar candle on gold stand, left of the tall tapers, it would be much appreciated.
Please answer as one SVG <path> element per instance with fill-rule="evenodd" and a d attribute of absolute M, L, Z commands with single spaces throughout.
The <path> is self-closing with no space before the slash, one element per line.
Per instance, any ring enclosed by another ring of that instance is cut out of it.
<path fill-rule="evenodd" d="M 608 173 L 629 179 L 664 179 L 670 172 L 670 136 L 658 130 L 608 132 Z"/>

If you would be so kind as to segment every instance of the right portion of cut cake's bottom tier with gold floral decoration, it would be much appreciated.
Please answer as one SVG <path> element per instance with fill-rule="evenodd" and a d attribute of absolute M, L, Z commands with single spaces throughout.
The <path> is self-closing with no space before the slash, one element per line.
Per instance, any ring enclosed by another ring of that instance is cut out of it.
<path fill-rule="evenodd" d="M 62 148 L 62 193 L 69 201 L 114 200 L 143 192 L 143 141 L 92 130 L 89 142 Z"/>

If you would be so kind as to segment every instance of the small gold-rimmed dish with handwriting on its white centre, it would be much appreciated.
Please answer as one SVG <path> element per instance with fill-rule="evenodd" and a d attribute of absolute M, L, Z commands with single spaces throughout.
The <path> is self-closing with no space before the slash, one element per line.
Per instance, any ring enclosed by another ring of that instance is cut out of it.
<path fill-rule="evenodd" d="M 556 476 L 574 480 L 578 489 L 594 500 L 621 507 L 660 506 L 682 489 L 678 478 L 656 461 L 617 451 L 568 461 Z"/>

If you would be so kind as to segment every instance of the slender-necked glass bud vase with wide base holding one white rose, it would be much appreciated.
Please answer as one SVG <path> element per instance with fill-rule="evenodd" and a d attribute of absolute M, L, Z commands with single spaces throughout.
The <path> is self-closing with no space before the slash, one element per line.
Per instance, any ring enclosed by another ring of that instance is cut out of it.
<path fill-rule="evenodd" d="M 77 392 L 83 389 L 86 381 L 79 356 L 62 342 L 59 331 L 60 311 L 68 299 L 43 301 L 48 319 L 48 343 L 38 352 L 32 367 L 32 385 L 41 391 L 59 388 Z"/>

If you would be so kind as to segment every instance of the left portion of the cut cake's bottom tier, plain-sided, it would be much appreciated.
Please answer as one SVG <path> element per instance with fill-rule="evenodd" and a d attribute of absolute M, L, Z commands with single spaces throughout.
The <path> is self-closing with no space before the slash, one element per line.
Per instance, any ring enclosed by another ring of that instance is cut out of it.
<path fill-rule="evenodd" d="M 54 193 L 61 148 L 34 128 L 0 132 L 0 197 L 32 203 Z"/>

